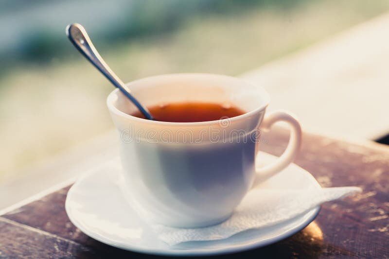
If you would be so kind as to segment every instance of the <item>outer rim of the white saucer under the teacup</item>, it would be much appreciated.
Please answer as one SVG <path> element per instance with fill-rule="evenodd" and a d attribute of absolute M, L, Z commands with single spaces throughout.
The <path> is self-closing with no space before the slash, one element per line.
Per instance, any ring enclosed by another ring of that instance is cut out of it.
<path fill-rule="evenodd" d="M 265 153 L 265 152 L 263 152 L 263 153 Z M 266 153 L 266 155 L 271 155 L 271 154 Z M 274 155 L 271 155 L 271 156 L 274 156 Z M 315 188 L 321 188 L 320 185 L 318 184 L 318 182 L 316 181 L 315 177 L 313 177 L 313 175 L 311 173 L 309 173 L 308 171 L 304 170 L 303 168 L 301 168 L 300 166 L 298 166 L 294 163 L 290 164 L 289 166 L 292 166 L 295 170 L 299 170 L 299 171 L 301 171 L 301 173 L 306 174 L 306 177 L 310 178 L 310 180 L 312 181 L 312 185 L 315 186 Z M 284 170 L 287 170 L 287 168 Z M 268 239 L 262 240 L 262 241 L 249 242 L 246 244 L 232 245 L 232 246 L 226 246 L 226 247 L 221 247 L 221 248 L 198 248 L 198 249 L 196 248 L 196 249 L 185 249 L 185 250 L 177 249 L 174 246 L 171 246 L 170 248 L 167 248 L 167 249 L 143 248 L 143 247 L 140 247 L 138 245 L 132 245 L 131 243 L 116 242 L 116 241 L 113 241 L 109 238 L 106 238 L 100 234 L 97 234 L 94 231 L 89 231 L 88 226 L 85 226 L 84 224 L 79 223 L 76 220 L 76 217 L 72 216 L 71 207 L 69 206 L 68 201 L 71 200 L 71 196 L 73 195 L 74 190 L 77 189 L 78 185 L 81 182 L 83 182 L 83 180 L 88 178 L 89 175 L 96 173 L 96 172 L 97 172 L 96 168 L 94 168 L 94 170 L 90 170 L 88 173 L 85 173 L 79 179 L 77 179 L 77 181 L 69 189 L 67 197 L 66 197 L 66 201 L 65 201 L 65 211 L 69 217 L 69 220 L 78 229 L 80 229 L 84 234 L 88 235 L 89 237 L 91 237 L 99 242 L 103 242 L 105 244 L 108 244 L 108 245 L 111 245 L 111 246 L 114 246 L 114 247 L 117 247 L 120 249 L 124 249 L 124 250 L 130 251 L 130 252 L 136 252 L 136 253 L 142 253 L 142 254 L 148 254 L 148 255 L 186 256 L 186 257 L 207 256 L 207 255 L 211 256 L 211 255 L 223 255 L 223 254 L 227 254 L 227 253 L 231 253 L 231 252 L 242 252 L 242 251 L 247 251 L 247 250 L 251 250 L 251 249 L 255 249 L 255 248 L 260 248 L 260 247 L 281 241 L 287 237 L 290 237 L 290 236 L 298 233 L 299 231 L 304 229 L 308 224 L 310 224 L 312 221 L 315 220 L 315 218 L 318 216 L 318 213 L 321 209 L 321 206 L 317 206 L 317 207 L 310 209 L 306 213 L 303 213 L 303 214 L 296 216 L 292 219 L 286 220 L 286 221 L 298 220 L 298 219 L 301 219 L 302 217 L 308 215 L 308 218 L 306 220 L 304 220 L 301 224 L 298 224 L 298 225 L 288 229 L 288 231 L 284 232 L 283 234 L 280 234 L 278 236 L 268 238 Z M 283 221 L 282 223 L 279 223 L 279 224 L 283 224 L 286 221 Z M 279 225 L 279 224 L 275 224 L 274 227 L 277 227 L 277 225 Z M 231 238 L 233 238 L 233 236 L 231 236 L 230 238 L 227 238 L 227 239 L 231 239 Z M 212 241 L 209 241 L 209 242 L 212 242 Z"/>

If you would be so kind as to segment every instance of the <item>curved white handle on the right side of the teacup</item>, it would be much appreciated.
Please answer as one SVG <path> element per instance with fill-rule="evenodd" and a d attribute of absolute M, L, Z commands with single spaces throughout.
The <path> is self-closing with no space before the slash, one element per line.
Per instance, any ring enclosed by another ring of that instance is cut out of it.
<path fill-rule="evenodd" d="M 290 125 L 290 138 L 288 146 L 286 147 L 283 154 L 270 165 L 266 165 L 263 168 L 256 169 L 256 175 L 252 187 L 257 186 L 271 176 L 281 172 L 286 168 L 295 158 L 297 152 L 301 146 L 301 125 L 296 117 L 289 112 L 278 110 L 265 116 L 265 119 L 261 123 L 263 131 L 269 131 L 270 127 L 278 122 L 283 121 Z"/>

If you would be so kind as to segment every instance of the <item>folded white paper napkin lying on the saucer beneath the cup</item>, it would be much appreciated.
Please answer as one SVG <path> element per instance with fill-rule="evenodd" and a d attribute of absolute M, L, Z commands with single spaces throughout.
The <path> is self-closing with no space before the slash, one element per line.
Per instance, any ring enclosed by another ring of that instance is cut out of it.
<path fill-rule="evenodd" d="M 221 224 L 203 228 L 151 226 L 160 240 L 169 245 L 188 241 L 226 239 L 252 228 L 281 223 L 299 216 L 318 205 L 360 192 L 358 187 L 315 188 L 307 190 L 253 189 Z M 258 197 L 261 197 L 258 199 Z"/>

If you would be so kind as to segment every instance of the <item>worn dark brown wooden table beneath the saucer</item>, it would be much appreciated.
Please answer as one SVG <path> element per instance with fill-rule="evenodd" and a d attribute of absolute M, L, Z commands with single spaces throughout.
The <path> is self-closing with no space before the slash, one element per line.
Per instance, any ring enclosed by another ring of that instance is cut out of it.
<path fill-rule="evenodd" d="M 261 149 L 283 152 L 284 131 L 265 135 Z M 296 163 L 323 187 L 359 186 L 354 197 L 322 206 L 299 233 L 245 258 L 389 258 L 389 147 L 304 134 Z M 55 172 L 54 172 L 55 173 Z M 71 224 L 64 209 L 69 187 L 0 216 L 0 258 L 148 257 L 95 241 Z"/>

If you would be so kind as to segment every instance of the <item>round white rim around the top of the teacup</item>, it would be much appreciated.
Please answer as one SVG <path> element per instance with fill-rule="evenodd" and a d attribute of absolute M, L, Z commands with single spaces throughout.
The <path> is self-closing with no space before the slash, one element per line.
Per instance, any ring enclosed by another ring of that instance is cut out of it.
<path fill-rule="evenodd" d="M 258 106 L 257 108 L 249 111 L 249 112 L 246 112 L 242 115 L 239 115 L 239 116 L 235 116 L 235 117 L 231 117 L 231 118 L 228 118 L 231 122 L 233 121 L 239 121 L 239 120 L 242 120 L 242 119 L 245 119 L 257 112 L 260 112 L 262 110 L 265 110 L 265 108 L 267 107 L 267 105 L 269 104 L 270 102 L 270 96 L 269 94 L 265 91 L 265 89 L 261 86 L 257 86 L 251 82 L 248 82 L 246 80 L 244 80 L 243 78 L 239 78 L 239 77 L 233 77 L 233 76 L 228 76 L 228 75 L 221 75 L 221 74 L 212 74 L 212 73 L 173 73 L 173 74 L 161 74 L 161 75 L 155 75 L 155 76 L 149 76 L 149 77 L 143 77 L 141 79 L 137 79 L 137 80 L 134 80 L 134 81 L 131 81 L 129 83 L 126 83 L 125 85 L 128 86 L 129 89 L 131 89 L 131 85 L 132 84 L 135 84 L 135 83 L 139 83 L 140 81 L 144 81 L 144 80 L 149 80 L 149 79 L 156 79 L 156 78 L 161 78 L 163 79 L 164 77 L 171 77 L 171 76 L 213 76 L 213 77 L 223 77 L 223 78 L 227 78 L 227 79 L 238 79 L 238 80 L 241 80 L 245 85 L 250 85 L 250 86 L 253 86 L 255 87 L 255 89 L 257 89 L 258 91 L 261 92 L 261 96 L 264 96 L 264 99 L 265 99 L 265 102 L 264 104 Z M 166 126 L 202 126 L 202 125 L 211 125 L 211 124 L 215 124 L 215 123 L 218 123 L 220 121 L 223 121 L 223 120 L 215 120 L 215 121 L 197 121 L 197 122 L 171 122 L 171 121 L 151 121 L 151 120 L 147 120 L 147 119 L 142 119 L 142 118 L 138 118 L 138 117 L 135 117 L 135 116 L 132 116 L 132 115 L 129 115 L 121 110 L 119 110 L 118 108 L 115 107 L 115 105 L 113 105 L 113 100 L 114 100 L 114 97 L 117 96 L 117 93 L 119 92 L 119 88 L 115 88 L 112 92 L 110 92 L 108 94 L 108 97 L 106 99 L 106 105 L 108 106 L 108 109 L 110 112 L 118 115 L 118 116 L 121 116 L 121 117 L 124 117 L 126 119 L 129 119 L 129 120 L 133 120 L 133 121 L 138 121 L 138 122 L 143 122 L 143 123 L 149 123 L 149 124 L 154 124 L 154 125 L 166 125 Z"/>

